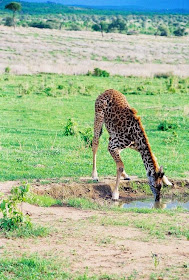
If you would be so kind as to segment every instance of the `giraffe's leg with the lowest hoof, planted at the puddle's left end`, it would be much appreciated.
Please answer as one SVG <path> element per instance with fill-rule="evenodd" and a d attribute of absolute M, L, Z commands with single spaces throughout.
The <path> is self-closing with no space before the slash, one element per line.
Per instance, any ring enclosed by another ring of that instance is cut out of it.
<path fill-rule="evenodd" d="M 109 142 L 108 150 L 109 150 L 111 156 L 113 157 L 113 159 L 116 163 L 116 167 L 117 167 L 116 185 L 115 185 L 115 188 L 112 193 L 112 199 L 118 200 L 119 199 L 119 183 L 120 183 L 121 176 L 122 176 L 122 174 L 125 176 L 127 174 L 124 171 L 124 164 L 120 157 L 120 150 L 118 148 L 112 148 L 112 145 L 113 145 L 112 142 L 111 141 Z"/>

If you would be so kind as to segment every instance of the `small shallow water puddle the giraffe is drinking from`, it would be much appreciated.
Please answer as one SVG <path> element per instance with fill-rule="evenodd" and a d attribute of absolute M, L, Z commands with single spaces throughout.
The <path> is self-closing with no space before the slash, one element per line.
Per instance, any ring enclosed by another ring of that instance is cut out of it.
<path fill-rule="evenodd" d="M 123 208 L 159 208 L 159 209 L 175 209 L 177 207 L 182 207 L 189 210 L 189 197 L 183 200 L 172 200 L 172 199 L 161 199 L 158 202 L 154 202 L 153 199 L 142 199 L 142 200 L 132 200 L 127 201 L 122 204 Z"/>

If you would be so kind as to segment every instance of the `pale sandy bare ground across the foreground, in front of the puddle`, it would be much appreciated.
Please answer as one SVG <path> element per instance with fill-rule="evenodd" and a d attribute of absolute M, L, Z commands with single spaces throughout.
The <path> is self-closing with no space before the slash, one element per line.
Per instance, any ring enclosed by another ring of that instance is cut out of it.
<path fill-rule="evenodd" d="M 71 207 L 43 208 L 24 204 L 24 211 L 30 212 L 33 222 L 51 228 L 50 236 L 32 239 L 1 239 L 1 253 L 9 256 L 38 254 L 45 258 L 56 258 L 65 271 L 75 273 L 115 274 L 126 279 L 158 279 L 150 275 L 162 274 L 163 279 L 186 280 L 184 264 L 188 261 L 188 241 L 167 235 L 159 240 L 132 226 L 107 225 L 101 222 L 128 219 L 150 219 L 151 216 L 135 213 L 112 213 Z M 136 215 L 138 215 L 136 217 Z M 179 220 L 186 214 L 179 214 Z M 159 216 L 157 220 L 159 220 Z M 166 215 L 163 220 L 169 220 Z M 158 224 L 158 222 L 157 222 Z M 157 259 L 155 266 L 154 257 Z M 135 275 L 135 278 L 127 278 Z M 170 277 L 169 277 L 170 276 Z M 177 279 L 177 278 L 174 278 Z"/>

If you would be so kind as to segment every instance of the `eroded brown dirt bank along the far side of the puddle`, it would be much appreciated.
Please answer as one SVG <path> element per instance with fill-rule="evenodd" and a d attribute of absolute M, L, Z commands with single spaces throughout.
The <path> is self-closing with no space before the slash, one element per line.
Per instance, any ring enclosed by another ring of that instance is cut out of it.
<path fill-rule="evenodd" d="M 43 181 L 33 182 L 32 189 L 40 195 L 48 194 L 56 199 L 67 199 L 70 197 L 85 197 L 93 200 L 111 199 L 112 190 L 115 186 L 115 178 L 102 178 L 100 182 L 92 182 L 90 178 L 80 178 L 79 182 L 71 179 L 67 182 L 43 183 Z M 188 180 L 174 180 L 172 187 L 162 189 L 163 197 L 185 196 L 189 194 Z M 134 200 L 152 196 L 147 180 L 132 177 L 131 181 L 122 180 L 120 183 L 120 199 Z"/>

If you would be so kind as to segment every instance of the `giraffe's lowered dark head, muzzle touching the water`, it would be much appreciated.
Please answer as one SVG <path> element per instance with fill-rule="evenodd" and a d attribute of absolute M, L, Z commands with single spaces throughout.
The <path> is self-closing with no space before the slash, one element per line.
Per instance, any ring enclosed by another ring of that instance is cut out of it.
<path fill-rule="evenodd" d="M 164 177 L 163 167 L 161 166 L 159 170 L 155 173 L 148 171 L 147 176 L 155 201 L 159 201 L 161 187 L 163 186 L 163 177 Z"/>

